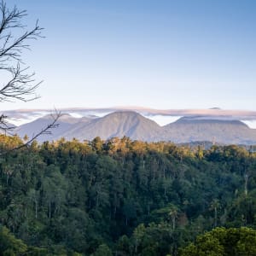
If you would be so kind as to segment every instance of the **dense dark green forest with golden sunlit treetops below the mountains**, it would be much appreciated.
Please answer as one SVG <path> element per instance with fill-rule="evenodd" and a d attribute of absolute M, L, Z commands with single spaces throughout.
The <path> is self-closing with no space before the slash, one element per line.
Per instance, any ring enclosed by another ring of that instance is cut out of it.
<path fill-rule="evenodd" d="M 232 252 L 255 244 L 253 230 L 222 228 L 189 245 L 218 226 L 256 228 L 253 148 L 127 137 L 19 145 L 0 136 L 1 255 L 199 255 L 206 244 L 221 253 L 229 232 Z"/>

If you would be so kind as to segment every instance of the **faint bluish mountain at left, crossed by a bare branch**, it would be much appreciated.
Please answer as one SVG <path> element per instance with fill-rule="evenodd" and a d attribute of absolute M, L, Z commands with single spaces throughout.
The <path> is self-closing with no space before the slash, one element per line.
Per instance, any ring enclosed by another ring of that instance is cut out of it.
<path fill-rule="evenodd" d="M 33 135 L 37 134 L 39 131 L 42 131 L 42 129 L 44 129 L 44 127 L 49 125 L 52 122 L 52 120 L 53 120 L 52 116 L 48 114 L 48 115 L 44 116 L 43 118 L 36 119 L 35 121 L 32 121 L 25 125 L 20 125 L 16 129 L 16 133 L 20 137 L 24 137 L 25 135 L 27 135 L 29 138 L 31 138 Z M 57 124 L 59 124 L 59 126 L 56 127 L 55 129 L 51 130 L 52 134 L 42 135 L 42 136 L 38 137 L 37 140 L 38 140 L 38 142 L 54 140 L 56 137 L 61 136 L 62 133 L 67 131 L 73 124 L 76 124 L 79 121 L 85 123 L 89 120 L 90 119 L 85 119 L 85 118 L 77 119 L 77 118 L 72 117 L 69 114 L 62 114 L 61 118 L 58 119 L 58 122 L 57 122 Z"/>

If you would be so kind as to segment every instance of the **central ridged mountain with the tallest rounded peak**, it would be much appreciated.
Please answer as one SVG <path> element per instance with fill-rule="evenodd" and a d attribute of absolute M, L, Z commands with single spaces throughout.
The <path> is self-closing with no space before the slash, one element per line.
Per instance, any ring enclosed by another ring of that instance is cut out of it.
<path fill-rule="evenodd" d="M 102 118 L 93 119 L 85 124 L 74 124 L 61 136 L 79 140 L 91 140 L 94 137 L 131 137 L 131 139 L 153 141 L 160 133 L 160 125 L 131 111 L 110 113 Z"/>

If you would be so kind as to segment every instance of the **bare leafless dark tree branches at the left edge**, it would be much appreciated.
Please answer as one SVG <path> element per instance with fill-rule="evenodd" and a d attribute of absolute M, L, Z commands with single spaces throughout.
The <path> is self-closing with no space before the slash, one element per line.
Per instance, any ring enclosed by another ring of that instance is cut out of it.
<path fill-rule="evenodd" d="M 26 10 L 19 10 L 15 6 L 9 9 L 6 3 L 0 2 L 0 102 L 22 102 L 37 99 L 36 90 L 42 83 L 36 82 L 35 73 L 29 72 L 22 59 L 23 51 L 30 49 L 29 42 L 42 38 L 43 28 L 38 26 L 38 21 L 32 29 L 26 29 L 22 19 L 27 15 Z M 39 135 L 49 134 L 49 129 L 55 128 L 60 113 L 55 114 L 51 124 L 47 125 L 38 134 L 26 142 L 31 143 Z M 14 127 L 7 124 L 7 116 L 0 115 L 0 130 L 4 133 L 11 131 Z"/>

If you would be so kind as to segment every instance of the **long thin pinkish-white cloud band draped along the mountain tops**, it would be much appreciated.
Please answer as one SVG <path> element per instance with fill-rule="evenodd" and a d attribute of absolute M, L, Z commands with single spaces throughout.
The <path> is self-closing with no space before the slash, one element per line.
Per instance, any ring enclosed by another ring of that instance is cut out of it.
<path fill-rule="evenodd" d="M 194 116 L 209 116 L 212 119 L 232 119 L 232 120 L 246 120 L 247 124 L 253 125 L 256 128 L 256 111 L 248 110 L 225 110 L 221 108 L 210 109 L 153 109 L 140 107 L 114 107 L 114 108 L 60 108 L 61 113 L 69 113 L 73 117 L 102 117 L 108 113 L 120 111 L 134 111 L 142 114 L 148 119 L 153 119 L 157 123 L 167 125 L 173 119 L 180 117 L 194 117 Z M 17 109 L 3 111 L 4 115 L 9 117 L 9 122 L 15 125 L 23 125 L 32 122 L 35 119 L 42 118 L 46 114 L 52 113 L 52 109 Z M 160 120 L 164 118 L 164 120 Z M 255 121 L 255 124 L 248 123 L 248 121 Z"/>

